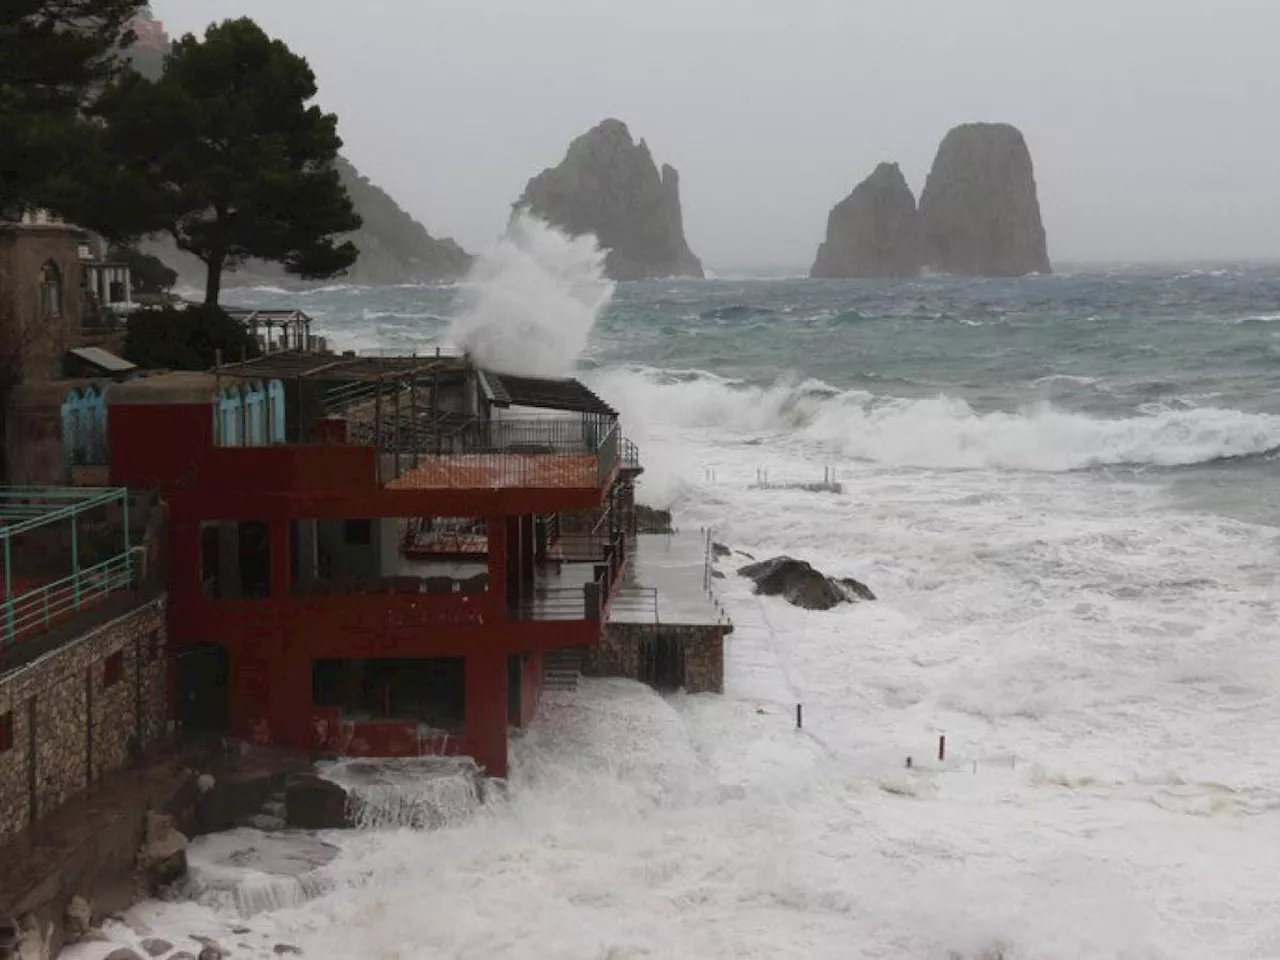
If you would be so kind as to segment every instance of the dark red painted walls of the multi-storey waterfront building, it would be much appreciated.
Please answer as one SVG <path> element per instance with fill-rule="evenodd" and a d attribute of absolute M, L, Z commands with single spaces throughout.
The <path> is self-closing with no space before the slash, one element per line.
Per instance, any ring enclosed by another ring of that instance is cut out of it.
<path fill-rule="evenodd" d="M 580 509 L 603 490 L 389 490 L 376 483 L 374 451 L 343 444 L 214 447 L 211 403 L 110 407 L 111 479 L 159 489 L 169 502 L 169 618 L 175 649 L 221 644 L 232 663 L 232 732 L 253 742 L 311 749 L 316 722 L 311 662 L 319 658 L 466 659 L 466 736 L 419 742 L 416 724 L 344 724 L 343 749 L 399 755 L 424 749 L 470 753 L 490 776 L 507 773 L 507 657 L 526 666 L 518 723 L 532 719 L 543 684 L 540 649 L 599 643 L 599 623 L 511 622 L 506 614 L 506 517 Z M 489 517 L 490 582 L 483 595 L 292 595 L 289 521 L 294 518 Z M 200 524 L 259 520 L 270 526 L 271 596 L 204 595 Z M 329 718 L 332 719 L 332 718 Z M 323 724 L 324 726 L 324 724 Z M 326 726 L 326 730 L 329 727 Z M 332 749 L 332 732 L 323 735 Z"/>

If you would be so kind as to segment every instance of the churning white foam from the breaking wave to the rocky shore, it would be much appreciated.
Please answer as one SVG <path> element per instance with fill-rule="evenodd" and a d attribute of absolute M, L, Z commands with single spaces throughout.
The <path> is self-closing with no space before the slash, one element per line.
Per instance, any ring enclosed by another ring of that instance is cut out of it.
<path fill-rule="evenodd" d="M 212 897 L 134 925 L 316 960 L 1280 955 L 1280 535 L 1064 472 L 1251 452 L 1274 419 L 593 378 L 644 444 L 641 499 L 879 600 L 799 611 L 726 561 L 723 696 L 550 694 L 506 803 L 326 836 L 328 892 L 271 881 L 248 920 Z M 753 489 L 832 463 L 838 495 Z"/>

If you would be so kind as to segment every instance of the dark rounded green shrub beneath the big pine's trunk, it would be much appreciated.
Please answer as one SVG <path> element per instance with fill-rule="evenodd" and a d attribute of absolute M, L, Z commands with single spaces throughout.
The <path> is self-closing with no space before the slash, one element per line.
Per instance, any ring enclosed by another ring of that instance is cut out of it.
<path fill-rule="evenodd" d="M 243 324 L 218 307 L 140 310 L 129 316 L 124 357 L 145 370 L 209 370 L 219 349 L 227 364 L 261 353 Z"/>

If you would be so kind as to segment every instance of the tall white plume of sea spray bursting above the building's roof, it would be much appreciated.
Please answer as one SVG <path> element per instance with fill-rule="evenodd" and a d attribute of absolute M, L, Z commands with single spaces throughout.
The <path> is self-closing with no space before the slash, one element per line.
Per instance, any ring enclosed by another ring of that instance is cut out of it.
<path fill-rule="evenodd" d="M 471 269 L 448 339 L 506 374 L 567 376 L 613 288 L 595 237 L 517 214 Z"/>

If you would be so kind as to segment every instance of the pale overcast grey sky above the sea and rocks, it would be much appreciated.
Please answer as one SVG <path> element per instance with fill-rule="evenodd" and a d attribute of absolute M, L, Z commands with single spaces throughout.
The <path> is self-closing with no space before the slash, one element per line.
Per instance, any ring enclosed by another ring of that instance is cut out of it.
<path fill-rule="evenodd" d="M 879 160 L 1006 120 L 1065 260 L 1280 257 L 1280 0 L 157 0 L 308 58 L 346 152 L 470 250 L 605 116 L 712 268 L 808 265 Z"/>

